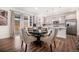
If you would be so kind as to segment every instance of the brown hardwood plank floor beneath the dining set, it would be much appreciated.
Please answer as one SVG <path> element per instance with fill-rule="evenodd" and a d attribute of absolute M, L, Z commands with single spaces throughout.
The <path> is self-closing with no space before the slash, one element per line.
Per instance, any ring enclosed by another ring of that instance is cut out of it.
<path fill-rule="evenodd" d="M 76 36 L 67 35 L 66 39 L 56 38 L 55 52 L 76 52 L 77 51 L 77 38 Z M 42 47 L 36 47 L 35 45 L 28 44 L 28 52 L 50 52 L 50 48 L 45 43 Z M 20 39 L 1 39 L 0 40 L 0 52 L 24 52 L 24 47 L 21 48 Z"/>

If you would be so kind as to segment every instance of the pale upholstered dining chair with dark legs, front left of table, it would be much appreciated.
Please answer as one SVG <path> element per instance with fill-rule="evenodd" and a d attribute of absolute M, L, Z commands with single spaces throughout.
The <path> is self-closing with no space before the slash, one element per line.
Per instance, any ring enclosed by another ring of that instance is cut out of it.
<path fill-rule="evenodd" d="M 25 43 L 25 52 L 27 51 L 27 45 L 35 40 L 36 38 L 34 36 L 29 35 L 25 29 L 21 29 L 21 48 L 23 46 L 23 43 Z"/>

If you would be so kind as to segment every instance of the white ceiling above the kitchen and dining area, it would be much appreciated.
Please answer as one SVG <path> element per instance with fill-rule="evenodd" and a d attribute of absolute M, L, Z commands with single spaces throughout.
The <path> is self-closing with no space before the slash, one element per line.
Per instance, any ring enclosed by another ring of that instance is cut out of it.
<path fill-rule="evenodd" d="M 36 15 L 57 15 L 66 12 L 75 11 L 77 7 L 20 7 L 24 11 L 34 13 Z"/>

